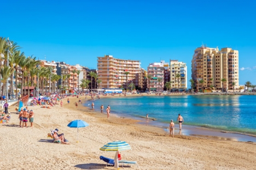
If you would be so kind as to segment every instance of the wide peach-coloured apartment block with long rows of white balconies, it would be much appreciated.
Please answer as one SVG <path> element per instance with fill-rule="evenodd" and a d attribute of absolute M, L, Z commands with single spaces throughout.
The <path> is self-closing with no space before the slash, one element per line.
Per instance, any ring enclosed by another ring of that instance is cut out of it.
<path fill-rule="evenodd" d="M 139 60 L 118 59 L 110 55 L 97 57 L 98 79 L 102 82 L 98 88 L 119 88 L 123 86 L 126 89 L 127 84 L 133 83 L 135 87 L 139 86 L 138 73 L 141 72 L 141 62 Z"/>

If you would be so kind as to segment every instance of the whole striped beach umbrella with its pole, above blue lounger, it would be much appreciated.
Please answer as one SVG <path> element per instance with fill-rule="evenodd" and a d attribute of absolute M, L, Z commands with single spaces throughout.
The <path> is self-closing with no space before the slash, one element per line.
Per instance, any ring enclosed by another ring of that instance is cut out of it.
<path fill-rule="evenodd" d="M 118 151 L 122 151 L 122 150 L 130 150 L 131 146 L 124 142 L 124 141 L 114 141 L 114 142 L 110 142 L 108 144 L 105 144 L 103 147 L 100 148 L 100 150 L 103 151 L 116 151 L 115 152 L 115 168 L 119 168 L 119 163 L 118 163 Z"/>

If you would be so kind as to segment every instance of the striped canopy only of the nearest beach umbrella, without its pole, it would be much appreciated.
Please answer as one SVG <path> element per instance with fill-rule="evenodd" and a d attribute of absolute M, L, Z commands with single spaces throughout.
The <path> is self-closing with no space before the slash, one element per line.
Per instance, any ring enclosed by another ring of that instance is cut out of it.
<path fill-rule="evenodd" d="M 131 149 L 130 145 L 124 141 L 110 142 L 100 148 L 100 150 L 103 150 L 103 151 L 121 151 L 121 150 L 130 150 L 130 149 Z"/>

